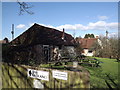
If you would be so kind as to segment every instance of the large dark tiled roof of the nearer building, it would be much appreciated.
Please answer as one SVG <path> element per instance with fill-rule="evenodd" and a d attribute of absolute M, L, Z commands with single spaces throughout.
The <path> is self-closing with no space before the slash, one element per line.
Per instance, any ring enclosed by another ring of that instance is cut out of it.
<path fill-rule="evenodd" d="M 15 45 L 74 45 L 74 38 L 67 33 L 64 33 L 65 40 L 62 39 L 63 32 L 34 24 L 20 36 L 15 38 L 12 43 Z"/>

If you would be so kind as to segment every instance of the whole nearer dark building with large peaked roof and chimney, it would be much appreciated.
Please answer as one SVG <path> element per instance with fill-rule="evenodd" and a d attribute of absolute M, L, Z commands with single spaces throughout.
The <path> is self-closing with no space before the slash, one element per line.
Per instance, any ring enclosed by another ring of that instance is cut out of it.
<path fill-rule="evenodd" d="M 47 63 L 51 60 L 59 60 L 65 50 L 74 55 L 75 40 L 63 31 L 34 24 L 17 38 L 10 42 L 11 59 L 22 63 Z M 64 55 L 63 55 L 64 56 Z"/>

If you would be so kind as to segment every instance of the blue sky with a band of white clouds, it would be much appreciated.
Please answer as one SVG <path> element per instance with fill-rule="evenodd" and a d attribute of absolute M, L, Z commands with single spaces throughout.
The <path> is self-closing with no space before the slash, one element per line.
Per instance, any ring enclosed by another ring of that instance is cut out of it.
<path fill-rule="evenodd" d="M 116 36 L 118 33 L 118 2 L 26 2 L 32 6 L 30 15 L 19 15 L 16 2 L 2 2 L 2 37 L 12 39 L 14 24 L 15 37 L 34 23 L 55 28 L 73 37 L 85 34 Z"/>

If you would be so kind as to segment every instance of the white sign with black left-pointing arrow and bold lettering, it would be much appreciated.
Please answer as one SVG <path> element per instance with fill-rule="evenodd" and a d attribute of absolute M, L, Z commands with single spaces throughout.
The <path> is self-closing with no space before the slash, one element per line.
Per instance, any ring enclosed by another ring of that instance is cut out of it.
<path fill-rule="evenodd" d="M 32 78 L 38 78 L 41 80 L 49 81 L 49 72 L 46 71 L 28 69 L 28 76 Z"/>

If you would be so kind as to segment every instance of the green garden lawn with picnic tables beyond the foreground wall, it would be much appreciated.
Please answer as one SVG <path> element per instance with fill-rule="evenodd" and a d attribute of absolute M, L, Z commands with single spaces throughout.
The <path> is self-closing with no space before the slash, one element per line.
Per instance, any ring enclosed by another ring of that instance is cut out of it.
<path fill-rule="evenodd" d="M 99 58 L 99 57 L 85 57 L 77 60 L 77 70 L 82 71 L 86 69 L 90 73 L 90 87 L 91 88 L 118 88 L 118 61 L 116 59 Z M 73 62 L 55 62 L 52 64 L 42 64 L 40 67 L 73 70 L 71 68 Z M 92 66 L 93 65 L 93 66 Z"/>

